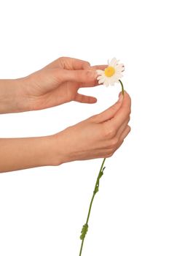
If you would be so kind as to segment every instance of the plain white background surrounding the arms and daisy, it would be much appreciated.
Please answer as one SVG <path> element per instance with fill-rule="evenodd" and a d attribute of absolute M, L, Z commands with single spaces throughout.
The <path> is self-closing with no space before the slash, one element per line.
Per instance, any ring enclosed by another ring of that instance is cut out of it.
<path fill-rule="evenodd" d="M 0 1 L 0 78 L 60 56 L 125 64 L 131 132 L 106 159 L 82 255 L 169 255 L 168 1 Z M 83 89 L 95 105 L 0 116 L 0 137 L 51 135 L 99 113 L 120 88 Z M 0 175 L 0 255 L 79 255 L 102 159 Z"/>

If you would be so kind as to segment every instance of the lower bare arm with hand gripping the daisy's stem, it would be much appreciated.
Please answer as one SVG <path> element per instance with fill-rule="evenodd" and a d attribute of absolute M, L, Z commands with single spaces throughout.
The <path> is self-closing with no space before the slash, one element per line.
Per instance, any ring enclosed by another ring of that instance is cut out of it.
<path fill-rule="evenodd" d="M 55 135 L 1 138 L 0 172 L 111 157 L 130 132 L 130 96 Z"/>

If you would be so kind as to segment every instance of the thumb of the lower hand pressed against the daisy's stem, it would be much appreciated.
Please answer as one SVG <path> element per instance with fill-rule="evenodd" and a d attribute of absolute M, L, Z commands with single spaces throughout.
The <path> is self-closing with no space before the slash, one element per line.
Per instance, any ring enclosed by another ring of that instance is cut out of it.
<path fill-rule="evenodd" d="M 104 110 L 103 112 L 99 113 L 97 116 L 97 119 L 99 122 L 107 121 L 115 116 L 119 108 L 122 106 L 122 94 L 119 94 L 118 101 L 112 105 L 110 108 Z"/>

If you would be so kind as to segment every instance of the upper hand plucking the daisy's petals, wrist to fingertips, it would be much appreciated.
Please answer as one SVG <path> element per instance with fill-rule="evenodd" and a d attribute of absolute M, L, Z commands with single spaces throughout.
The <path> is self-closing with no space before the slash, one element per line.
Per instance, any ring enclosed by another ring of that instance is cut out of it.
<path fill-rule="evenodd" d="M 50 108 L 70 102 L 95 103 L 97 99 L 78 93 L 79 88 L 97 86 L 96 69 L 79 59 L 61 57 L 24 79 L 24 97 L 29 110 Z"/>

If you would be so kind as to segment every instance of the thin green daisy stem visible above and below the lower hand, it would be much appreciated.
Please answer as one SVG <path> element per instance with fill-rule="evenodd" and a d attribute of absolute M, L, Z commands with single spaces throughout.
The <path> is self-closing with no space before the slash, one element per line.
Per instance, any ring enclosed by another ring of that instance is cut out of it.
<path fill-rule="evenodd" d="M 120 83 L 121 86 L 122 86 L 122 95 L 124 95 L 124 86 L 123 86 L 123 84 L 122 84 L 122 81 L 119 80 L 119 83 Z M 92 208 L 92 205 L 93 205 L 93 200 L 94 200 L 95 194 L 98 192 L 99 180 L 100 180 L 101 176 L 103 175 L 103 170 L 104 170 L 104 168 L 105 168 L 105 167 L 103 168 L 103 165 L 104 165 L 105 160 L 106 160 L 106 158 L 103 159 L 103 162 L 102 162 L 102 164 L 101 164 L 101 169 L 100 169 L 100 171 L 99 171 L 99 173 L 98 173 L 98 178 L 97 178 L 97 180 L 96 180 L 96 182 L 95 182 L 95 189 L 94 189 L 94 191 L 93 191 L 93 197 L 92 197 L 92 199 L 91 199 L 91 201 L 90 201 L 90 207 L 89 207 L 89 211 L 88 211 L 88 214 L 87 214 L 87 220 L 86 220 L 86 223 L 85 223 L 84 226 L 83 226 L 84 228 L 82 229 L 82 235 L 81 235 L 81 236 L 82 236 L 82 244 L 81 244 L 81 247 L 80 247 L 79 256 L 82 255 L 82 248 L 83 248 L 83 244 L 84 244 L 84 238 L 85 238 L 86 233 L 87 233 L 88 221 L 89 221 L 89 217 L 90 217 L 90 211 L 91 211 L 91 208 Z"/>

